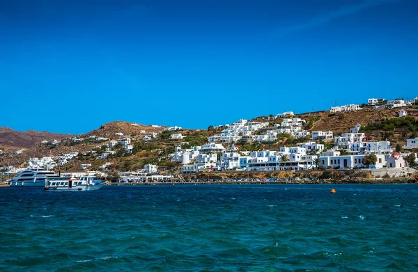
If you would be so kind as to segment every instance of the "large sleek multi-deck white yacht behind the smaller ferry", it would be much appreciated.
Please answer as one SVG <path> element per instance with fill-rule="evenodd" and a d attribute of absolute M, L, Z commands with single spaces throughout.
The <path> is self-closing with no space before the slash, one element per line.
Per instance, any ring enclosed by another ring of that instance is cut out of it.
<path fill-rule="evenodd" d="M 49 179 L 68 179 L 58 173 L 43 168 L 29 168 L 17 173 L 17 177 L 10 180 L 10 187 L 42 187 Z"/>

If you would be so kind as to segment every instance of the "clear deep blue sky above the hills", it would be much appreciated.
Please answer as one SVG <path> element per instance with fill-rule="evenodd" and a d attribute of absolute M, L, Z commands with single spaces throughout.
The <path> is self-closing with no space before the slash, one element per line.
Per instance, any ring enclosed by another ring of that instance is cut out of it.
<path fill-rule="evenodd" d="M 418 95 L 418 1 L 0 1 L 0 127 L 204 128 Z"/>

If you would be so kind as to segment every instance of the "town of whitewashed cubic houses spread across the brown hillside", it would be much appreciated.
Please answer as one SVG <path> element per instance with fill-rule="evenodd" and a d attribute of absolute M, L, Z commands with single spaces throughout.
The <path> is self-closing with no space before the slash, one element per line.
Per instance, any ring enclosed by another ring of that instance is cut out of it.
<path fill-rule="evenodd" d="M 36 154 L 33 150 L 1 151 L 0 170 L 3 175 L 14 175 L 25 168 L 45 168 L 72 177 L 88 173 L 124 182 L 224 171 L 295 173 L 327 169 L 402 177 L 413 173 L 418 165 L 414 153 L 418 149 L 418 122 L 408 116 L 408 108 L 412 110 L 416 104 L 418 97 L 410 101 L 370 98 L 367 104 L 332 106 L 327 116 L 366 109 L 395 112 L 391 118 L 358 122 L 338 133 L 314 130 L 319 117 L 301 118 L 292 111 L 205 130 L 115 122 L 113 130 L 102 126 L 102 130 L 89 134 L 42 141 L 36 146 L 38 154 L 55 155 L 29 157 L 24 163 L 10 161 L 19 161 L 15 159 L 24 158 L 25 152 Z M 337 116 L 337 122 L 340 117 L 343 115 Z M 121 129 L 121 125 L 125 127 Z M 405 141 L 404 145 L 391 144 L 395 134 L 397 140 Z M 59 152 L 54 150 L 78 151 L 56 154 Z"/>

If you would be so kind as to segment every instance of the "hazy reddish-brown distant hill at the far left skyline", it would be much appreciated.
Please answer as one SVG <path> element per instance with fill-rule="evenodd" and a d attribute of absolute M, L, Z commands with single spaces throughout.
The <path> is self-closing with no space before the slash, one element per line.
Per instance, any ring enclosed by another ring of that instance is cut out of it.
<path fill-rule="evenodd" d="M 50 133 L 48 131 L 16 131 L 8 127 L 0 127 L 0 145 L 29 148 L 42 141 L 54 141 L 71 137 L 72 134 Z"/>

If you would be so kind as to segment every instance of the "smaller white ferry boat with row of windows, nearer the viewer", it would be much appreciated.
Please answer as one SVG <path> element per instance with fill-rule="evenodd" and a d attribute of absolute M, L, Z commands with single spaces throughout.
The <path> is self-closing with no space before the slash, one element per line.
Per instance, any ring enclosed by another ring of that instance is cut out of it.
<path fill-rule="evenodd" d="M 80 179 L 49 179 L 45 180 L 45 191 L 93 191 L 102 188 L 104 182 L 95 177 L 80 177 Z"/>

